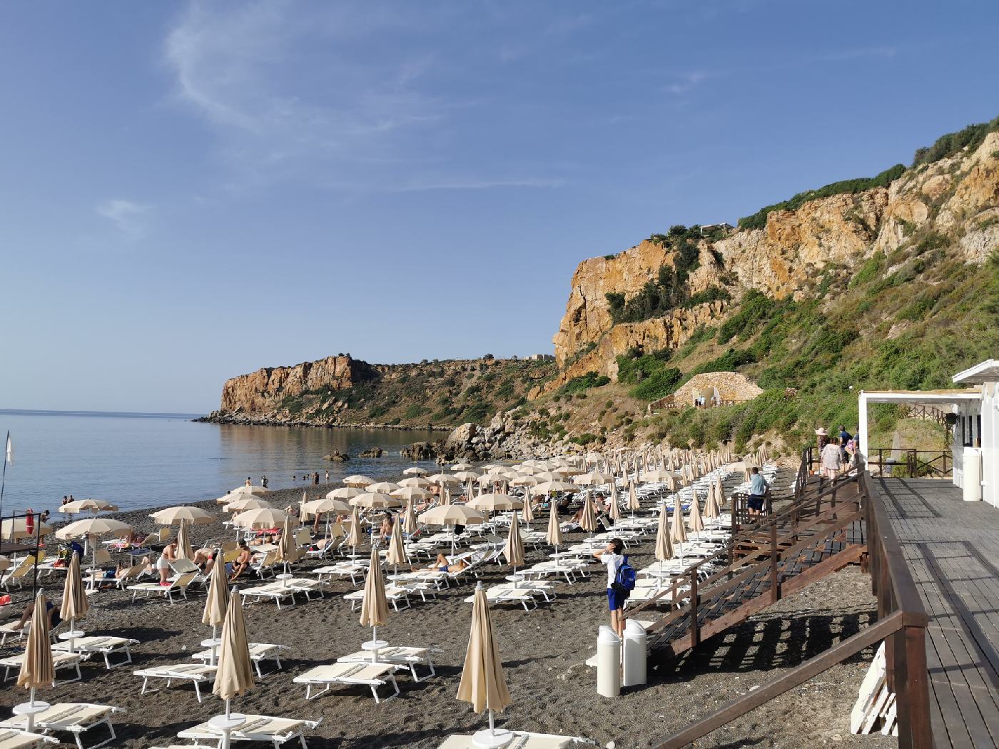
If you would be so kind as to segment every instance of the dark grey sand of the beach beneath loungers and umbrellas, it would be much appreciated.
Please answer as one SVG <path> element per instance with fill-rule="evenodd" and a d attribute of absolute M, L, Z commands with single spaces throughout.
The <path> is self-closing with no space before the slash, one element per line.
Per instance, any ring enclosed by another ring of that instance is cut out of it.
<path fill-rule="evenodd" d="M 330 486 L 311 487 L 310 498 L 325 494 Z M 278 506 L 302 498 L 302 488 L 273 492 L 268 499 Z M 215 509 L 212 502 L 203 506 Z M 126 522 L 153 530 L 152 510 L 117 513 Z M 544 518 L 535 520 L 542 527 Z M 582 534 L 570 534 L 568 541 Z M 195 544 L 231 537 L 220 523 L 193 529 Z M 652 558 L 652 536 L 631 549 L 636 567 Z M 540 560 L 549 549 L 527 549 L 528 564 Z M 318 566 L 309 561 L 303 570 Z M 708 640 L 677 662 L 649 662 L 649 683 L 626 690 L 619 700 L 599 697 L 595 673 L 582 661 L 592 654 L 597 627 L 606 623 L 604 578 L 598 574 L 557 588 L 551 603 L 541 603 L 525 612 L 513 604 L 493 607 L 493 621 L 512 704 L 498 716 L 500 725 L 530 731 L 582 736 L 599 746 L 646 747 L 671 730 L 706 715 L 728 699 L 765 683 L 782 670 L 849 636 L 873 616 L 875 602 L 869 578 L 850 567 L 819 580 L 803 591 Z M 500 581 L 509 568 L 494 565 L 483 573 L 489 585 Z M 55 598 L 62 591 L 61 574 L 45 581 Z M 247 584 L 247 583 L 244 583 Z M 274 603 L 246 607 L 252 642 L 289 646 L 284 668 L 269 673 L 263 682 L 234 709 L 248 713 L 295 716 L 322 724 L 308 736 L 317 749 L 367 749 L 369 747 L 436 747 L 453 732 L 471 733 L 486 724 L 485 715 L 455 699 L 469 636 L 471 604 L 464 598 L 474 584 L 444 590 L 436 600 L 415 600 L 410 609 L 390 612 L 380 637 L 391 644 L 434 646 L 438 676 L 414 683 L 399 676 L 399 698 L 376 705 L 367 687 L 336 687 L 318 699 L 306 701 L 305 688 L 292 678 L 320 663 L 359 649 L 370 639 L 369 629 L 358 623 L 343 595 L 352 588 L 349 580 L 334 582 L 326 597 L 278 610 Z M 16 595 L 17 605 L 7 609 L 7 618 L 19 613 L 27 593 Z M 172 686 L 139 695 L 142 680 L 137 668 L 184 662 L 200 650 L 209 635 L 201 623 L 205 594 L 194 589 L 190 600 L 168 605 L 163 600 L 130 600 L 130 594 L 102 591 L 91 598 L 92 608 L 82 628 L 89 634 L 120 634 L 140 640 L 133 649 L 134 663 L 107 671 L 103 661 L 92 659 L 83 666 L 83 681 L 57 686 L 42 697 L 49 702 L 86 700 L 117 705 L 127 710 L 116 717 L 116 746 L 145 749 L 172 742 L 178 731 L 207 720 L 223 709 L 211 695 L 199 704 L 190 686 Z M 301 597 L 300 597 L 301 599 Z M 12 609 L 17 609 L 13 611 Z M 16 652 L 16 641 L 8 642 L 4 654 Z M 849 710 L 869 663 L 871 652 L 819 675 L 802 687 L 767 703 L 702 739 L 703 747 L 807 747 L 824 744 L 845 746 L 895 746 L 897 741 L 881 736 L 855 737 L 849 733 Z M 265 669 L 266 673 L 266 669 Z M 14 686 L 14 676 L 0 693 L 3 714 L 24 700 Z M 208 688 L 210 691 L 210 687 Z"/>

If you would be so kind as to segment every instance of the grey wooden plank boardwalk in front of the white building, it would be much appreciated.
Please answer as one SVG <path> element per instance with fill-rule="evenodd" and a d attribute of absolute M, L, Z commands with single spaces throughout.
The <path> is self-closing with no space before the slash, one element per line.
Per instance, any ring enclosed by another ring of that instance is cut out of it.
<path fill-rule="evenodd" d="M 934 744 L 999 746 L 999 508 L 963 501 L 946 480 L 872 483 L 929 615 Z"/>

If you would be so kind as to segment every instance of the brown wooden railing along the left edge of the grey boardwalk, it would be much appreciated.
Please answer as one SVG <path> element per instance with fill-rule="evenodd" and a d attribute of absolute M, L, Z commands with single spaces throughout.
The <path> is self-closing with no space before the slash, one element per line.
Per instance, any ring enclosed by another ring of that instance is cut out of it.
<path fill-rule="evenodd" d="M 655 749 L 686 746 L 882 640 L 888 688 L 894 692 L 897 705 L 898 745 L 900 749 L 931 749 L 933 734 L 926 671 L 928 617 L 901 546 L 885 515 L 880 492 L 866 471 L 860 471 L 857 480 L 861 512 L 867 524 L 869 569 L 878 601 L 878 621 L 677 731 L 655 744 Z"/>

